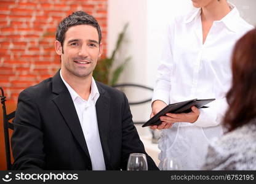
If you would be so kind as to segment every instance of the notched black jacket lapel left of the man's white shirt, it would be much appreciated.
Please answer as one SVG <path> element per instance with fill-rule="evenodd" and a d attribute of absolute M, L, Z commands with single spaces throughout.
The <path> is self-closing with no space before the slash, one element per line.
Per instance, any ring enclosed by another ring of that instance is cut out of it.
<path fill-rule="evenodd" d="M 82 132 L 78 114 L 76 113 L 70 93 L 60 77 L 60 72 L 57 72 L 52 79 L 52 92 L 57 94 L 52 101 L 54 101 L 54 103 L 57 105 L 74 138 L 78 141 L 78 144 L 90 159 L 86 139 L 84 138 L 84 134 Z"/>

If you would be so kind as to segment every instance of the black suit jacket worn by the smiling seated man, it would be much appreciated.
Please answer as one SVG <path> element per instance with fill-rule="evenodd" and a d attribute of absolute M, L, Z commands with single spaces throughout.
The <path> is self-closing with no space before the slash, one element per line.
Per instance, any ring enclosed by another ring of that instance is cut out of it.
<path fill-rule="evenodd" d="M 126 170 L 129 154 L 145 153 L 145 148 L 125 94 L 98 82 L 97 87 L 98 131 L 106 169 Z M 20 93 L 11 142 L 12 169 L 92 169 L 76 109 L 59 72 Z M 148 169 L 158 170 L 148 155 L 147 160 Z"/>

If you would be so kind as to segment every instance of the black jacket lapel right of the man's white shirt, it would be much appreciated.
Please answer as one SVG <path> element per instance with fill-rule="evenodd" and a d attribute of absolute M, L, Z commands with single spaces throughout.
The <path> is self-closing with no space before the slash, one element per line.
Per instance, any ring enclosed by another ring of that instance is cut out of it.
<path fill-rule="evenodd" d="M 109 139 L 109 121 L 110 121 L 110 96 L 109 94 L 102 88 L 100 83 L 97 83 L 98 91 L 100 93 L 100 97 L 96 102 L 96 113 L 97 113 L 97 121 L 98 121 L 98 132 L 100 134 L 100 141 L 102 143 L 103 155 L 105 159 L 106 169 L 110 170 L 113 168 L 111 166 L 111 155 L 108 147 L 108 139 Z"/>

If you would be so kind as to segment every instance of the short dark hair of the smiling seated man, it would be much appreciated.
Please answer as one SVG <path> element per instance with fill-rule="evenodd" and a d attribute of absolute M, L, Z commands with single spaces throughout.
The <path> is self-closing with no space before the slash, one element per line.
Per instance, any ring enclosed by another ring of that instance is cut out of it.
<path fill-rule="evenodd" d="M 65 33 L 68 31 L 68 28 L 77 25 L 90 25 L 97 29 L 98 31 L 98 44 L 102 41 L 102 31 L 98 25 L 97 20 L 95 20 L 92 15 L 87 14 L 83 11 L 73 12 L 72 15 L 64 18 L 58 25 L 56 32 L 56 40 L 60 42 L 63 48 L 63 42 L 65 40 Z"/>

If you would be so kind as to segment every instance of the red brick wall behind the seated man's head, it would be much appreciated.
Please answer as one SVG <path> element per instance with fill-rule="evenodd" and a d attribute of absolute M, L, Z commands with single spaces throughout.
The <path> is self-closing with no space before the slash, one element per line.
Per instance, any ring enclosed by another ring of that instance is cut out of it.
<path fill-rule="evenodd" d="M 73 11 L 93 15 L 103 33 L 106 53 L 107 0 L 0 0 L 0 86 L 9 102 L 28 86 L 60 68 L 55 29 Z"/>

